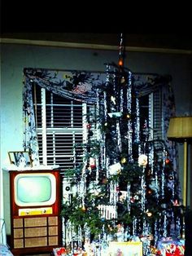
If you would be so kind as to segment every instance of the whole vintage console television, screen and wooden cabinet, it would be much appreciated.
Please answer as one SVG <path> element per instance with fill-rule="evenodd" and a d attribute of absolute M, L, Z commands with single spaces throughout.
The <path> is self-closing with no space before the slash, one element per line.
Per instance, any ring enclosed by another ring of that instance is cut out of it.
<path fill-rule="evenodd" d="M 11 170 L 11 251 L 51 252 L 61 245 L 59 170 Z"/>

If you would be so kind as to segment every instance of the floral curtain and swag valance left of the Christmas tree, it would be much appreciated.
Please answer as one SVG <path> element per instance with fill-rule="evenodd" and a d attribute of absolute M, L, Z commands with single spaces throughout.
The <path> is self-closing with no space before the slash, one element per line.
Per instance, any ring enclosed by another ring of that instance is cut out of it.
<path fill-rule="evenodd" d="M 96 90 L 105 83 L 105 73 L 86 71 L 51 71 L 47 69 L 25 68 L 23 88 L 24 150 L 30 152 L 33 166 L 39 165 L 37 127 L 33 109 L 33 85 L 50 92 L 76 99 L 88 104 L 96 104 Z"/>

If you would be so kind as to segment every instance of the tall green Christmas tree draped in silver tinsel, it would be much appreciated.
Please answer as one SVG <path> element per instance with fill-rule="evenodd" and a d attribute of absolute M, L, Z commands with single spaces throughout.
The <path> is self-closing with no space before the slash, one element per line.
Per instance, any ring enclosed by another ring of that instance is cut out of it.
<path fill-rule="evenodd" d="M 166 143 L 152 138 L 139 113 L 122 41 L 119 62 L 107 64 L 106 73 L 96 108 L 85 117 L 87 139 L 74 145 L 84 148 L 83 165 L 66 172 L 76 194 L 63 202 L 64 244 L 74 249 L 89 240 L 97 248 L 139 238 L 143 254 L 150 255 L 160 237 L 181 236 L 177 174 Z"/>

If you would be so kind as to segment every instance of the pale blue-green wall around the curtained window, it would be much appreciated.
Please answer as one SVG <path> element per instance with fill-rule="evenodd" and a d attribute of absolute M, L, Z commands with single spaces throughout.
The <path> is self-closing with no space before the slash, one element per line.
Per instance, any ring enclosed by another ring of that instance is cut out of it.
<path fill-rule="evenodd" d="M 105 64 L 117 63 L 119 52 L 2 44 L 1 67 L 1 169 L 8 163 L 9 151 L 22 147 L 23 68 L 55 68 L 105 71 Z M 172 76 L 177 116 L 192 115 L 192 77 L 190 55 L 127 52 L 125 66 L 133 73 L 158 73 Z M 180 165 L 182 150 L 180 148 Z M 180 174 L 182 179 L 182 174 Z M 1 172 L 2 182 L 2 172 Z M 4 183 L 7 188 L 7 183 Z M 1 183 L 2 189 L 2 183 Z M 2 203 L 1 191 L 1 203 Z M 8 198 L 4 198 L 9 205 Z M 8 206 L 7 206 L 8 207 Z M 8 208 L 5 213 L 8 212 Z M 9 216 L 7 233 L 10 233 Z M 3 217 L 2 205 L 1 216 Z M 1 217 L 1 218 L 2 218 Z"/>

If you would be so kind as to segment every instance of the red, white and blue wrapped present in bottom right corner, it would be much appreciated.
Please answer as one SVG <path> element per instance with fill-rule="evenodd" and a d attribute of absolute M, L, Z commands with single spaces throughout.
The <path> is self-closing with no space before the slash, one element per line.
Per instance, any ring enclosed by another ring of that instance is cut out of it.
<path fill-rule="evenodd" d="M 158 241 L 157 248 L 162 256 L 184 256 L 185 243 L 181 240 L 173 240 L 166 237 Z"/>

